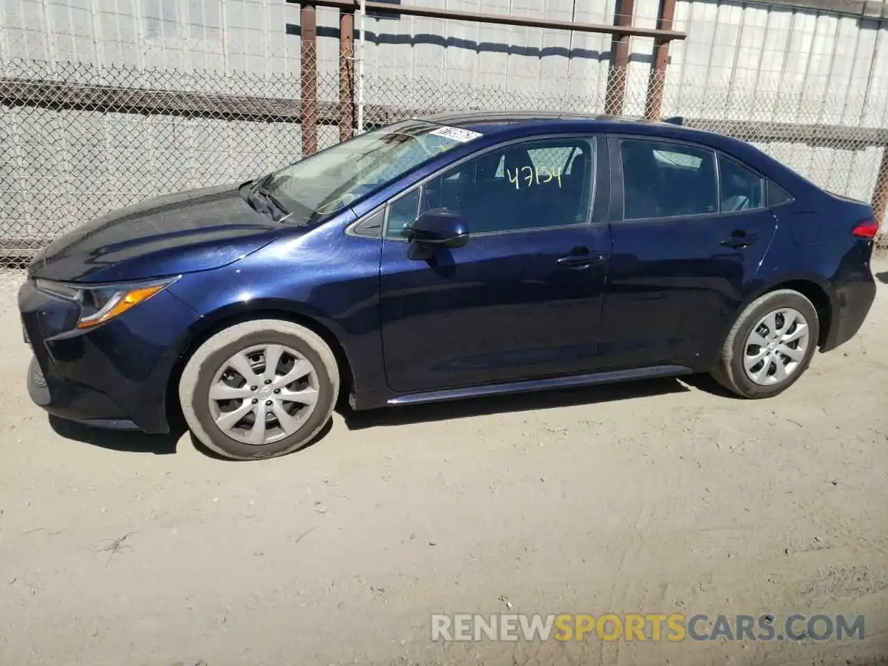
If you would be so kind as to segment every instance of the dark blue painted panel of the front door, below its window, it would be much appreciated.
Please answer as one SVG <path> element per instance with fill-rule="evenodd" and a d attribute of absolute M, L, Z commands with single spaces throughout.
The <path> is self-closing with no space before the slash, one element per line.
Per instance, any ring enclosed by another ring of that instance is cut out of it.
<path fill-rule="evenodd" d="M 388 385 L 416 392 L 598 369 L 607 226 L 470 239 L 435 262 L 385 240 L 379 284 Z M 559 266 L 575 249 L 586 266 Z"/>

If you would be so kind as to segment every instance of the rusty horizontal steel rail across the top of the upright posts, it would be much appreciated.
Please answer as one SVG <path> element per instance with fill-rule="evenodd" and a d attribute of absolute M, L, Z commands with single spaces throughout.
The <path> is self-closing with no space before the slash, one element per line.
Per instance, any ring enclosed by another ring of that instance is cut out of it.
<path fill-rule="evenodd" d="M 287 0 L 290 4 L 302 4 L 301 0 Z M 351 9 L 358 7 L 358 0 L 312 0 L 318 7 L 336 7 Z M 576 30 L 577 32 L 597 32 L 606 35 L 627 35 L 638 37 L 656 37 L 659 39 L 685 39 L 687 34 L 676 30 L 658 30 L 656 28 L 632 28 L 630 25 L 614 25 L 598 23 L 576 23 L 569 20 L 531 19 L 524 16 L 509 14 L 488 14 L 486 12 L 456 12 L 452 9 L 435 9 L 404 4 L 366 3 L 368 12 L 388 12 L 406 16 L 424 16 L 429 19 L 465 20 L 473 23 L 495 23 L 505 26 L 522 26 L 527 28 L 552 28 L 555 30 Z"/>

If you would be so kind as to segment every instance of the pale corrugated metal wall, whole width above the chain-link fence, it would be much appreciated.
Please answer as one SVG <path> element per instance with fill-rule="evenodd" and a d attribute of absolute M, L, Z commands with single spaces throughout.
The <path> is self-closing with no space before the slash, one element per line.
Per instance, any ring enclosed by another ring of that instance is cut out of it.
<path fill-rule="evenodd" d="M 432 7 L 612 23 L 613 0 L 423 0 Z M 657 0 L 638 0 L 638 27 L 654 28 Z M 95 65 L 297 74 L 299 11 L 283 0 L 2 0 L 0 56 Z M 337 67 L 337 12 L 318 10 L 321 71 Z M 287 26 L 291 28 L 287 34 Z M 560 96 L 603 91 L 610 37 L 540 28 L 402 17 L 367 22 L 368 75 Z M 325 29 L 326 28 L 326 29 Z M 877 124 L 888 97 L 888 24 L 759 3 L 686 2 L 676 7 L 684 42 L 670 50 L 669 81 L 687 95 L 797 93 L 847 100 L 824 123 Z M 631 43 L 631 77 L 646 80 L 653 40 Z M 678 100 L 680 101 L 680 100 Z M 768 105 L 757 120 L 771 120 Z M 781 118 L 791 120 L 791 118 Z"/>

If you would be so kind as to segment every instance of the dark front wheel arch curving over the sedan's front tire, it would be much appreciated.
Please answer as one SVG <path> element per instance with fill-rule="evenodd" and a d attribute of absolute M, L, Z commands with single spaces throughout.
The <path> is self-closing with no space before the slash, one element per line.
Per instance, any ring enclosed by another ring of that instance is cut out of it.
<path fill-rule="evenodd" d="M 186 363 L 191 359 L 194 352 L 200 346 L 216 335 L 219 331 L 227 329 L 234 324 L 244 321 L 255 321 L 258 319 L 278 319 L 281 321 L 289 321 L 291 323 L 305 326 L 306 329 L 312 330 L 323 339 L 330 350 L 333 352 L 339 369 L 339 398 L 348 396 L 353 390 L 354 376 L 352 362 L 345 352 L 345 346 L 339 337 L 325 323 L 321 322 L 317 317 L 310 313 L 294 310 L 284 307 L 274 302 L 256 303 L 250 309 L 241 307 L 225 308 L 216 313 L 211 313 L 202 319 L 202 326 L 189 331 L 188 337 L 183 345 L 181 345 L 176 361 L 170 370 L 170 377 L 167 379 L 166 385 L 166 413 L 167 419 L 170 421 L 173 417 L 179 419 L 181 417 L 181 405 L 178 402 L 178 383 L 182 377 L 182 371 L 185 369 Z"/>

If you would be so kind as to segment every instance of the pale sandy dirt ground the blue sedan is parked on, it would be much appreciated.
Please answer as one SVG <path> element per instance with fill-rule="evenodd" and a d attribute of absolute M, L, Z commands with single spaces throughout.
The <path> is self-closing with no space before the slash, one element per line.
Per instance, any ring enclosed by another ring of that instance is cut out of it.
<path fill-rule="evenodd" d="M 313 447 L 244 464 L 51 424 L 25 388 L 20 279 L 0 274 L 4 666 L 888 656 L 886 284 L 858 337 L 773 400 L 693 378 L 337 414 Z M 824 642 L 431 641 L 433 613 L 499 612 L 866 624 Z"/>

